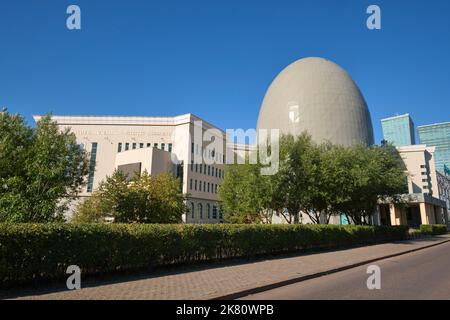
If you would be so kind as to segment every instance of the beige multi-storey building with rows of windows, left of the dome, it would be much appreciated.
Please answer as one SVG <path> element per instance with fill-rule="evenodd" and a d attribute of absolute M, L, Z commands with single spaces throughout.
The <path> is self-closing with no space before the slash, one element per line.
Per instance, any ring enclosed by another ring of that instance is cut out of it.
<path fill-rule="evenodd" d="M 41 116 L 34 116 L 39 121 Z M 114 170 L 129 174 L 171 172 L 187 195 L 186 223 L 221 223 L 218 200 L 224 178 L 226 134 L 192 114 L 176 117 L 53 116 L 70 128 L 89 153 L 89 173 L 80 201 Z"/>

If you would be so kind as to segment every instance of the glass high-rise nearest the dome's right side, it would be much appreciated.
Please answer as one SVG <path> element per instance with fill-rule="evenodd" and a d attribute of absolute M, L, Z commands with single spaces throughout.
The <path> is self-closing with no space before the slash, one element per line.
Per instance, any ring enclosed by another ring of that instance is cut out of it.
<path fill-rule="evenodd" d="M 381 127 L 384 140 L 396 147 L 416 144 L 414 122 L 409 114 L 382 119 Z"/>

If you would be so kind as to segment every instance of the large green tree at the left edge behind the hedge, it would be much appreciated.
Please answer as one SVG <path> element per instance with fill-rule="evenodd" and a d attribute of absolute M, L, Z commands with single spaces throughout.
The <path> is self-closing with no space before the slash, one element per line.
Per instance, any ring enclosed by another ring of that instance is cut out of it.
<path fill-rule="evenodd" d="M 85 183 L 87 162 L 75 135 L 51 116 L 30 128 L 20 115 L 1 112 L 0 221 L 62 221 Z"/>

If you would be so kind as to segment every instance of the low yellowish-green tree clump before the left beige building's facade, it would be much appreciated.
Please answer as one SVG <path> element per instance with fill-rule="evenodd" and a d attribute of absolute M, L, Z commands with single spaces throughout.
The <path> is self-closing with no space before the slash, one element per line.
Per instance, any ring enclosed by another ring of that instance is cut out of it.
<path fill-rule="evenodd" d="M 179 223 L 185 211 L 180 182 L 172 174 L 144 172 L 129 179 L 116 170 L 78 206 L 72 222 Z"/>

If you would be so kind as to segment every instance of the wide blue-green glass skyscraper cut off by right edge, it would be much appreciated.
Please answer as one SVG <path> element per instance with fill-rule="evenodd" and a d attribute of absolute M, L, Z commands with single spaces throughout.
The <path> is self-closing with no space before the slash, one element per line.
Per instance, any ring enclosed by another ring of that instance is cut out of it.
<path fill-rule="evenodd" d="M 436 170 L 445 173 L 444 166 L 450 168 L 450 122 L 420 126 L 419 142 L 427 146 L 435 146 L 434 159 Z"/>

